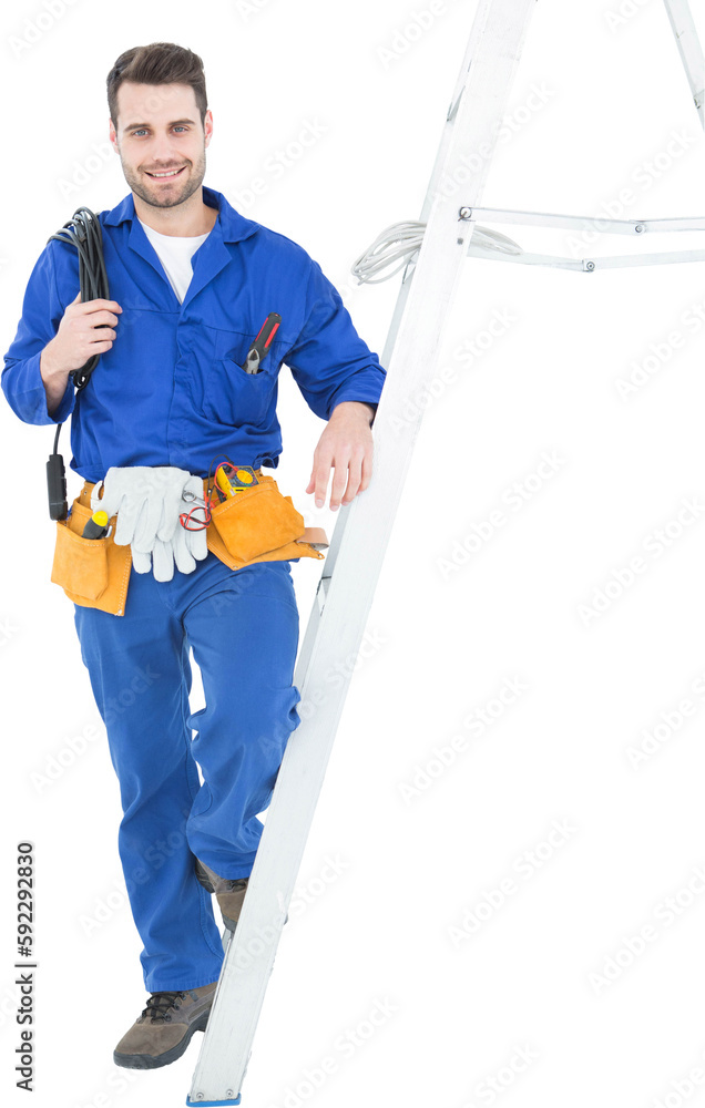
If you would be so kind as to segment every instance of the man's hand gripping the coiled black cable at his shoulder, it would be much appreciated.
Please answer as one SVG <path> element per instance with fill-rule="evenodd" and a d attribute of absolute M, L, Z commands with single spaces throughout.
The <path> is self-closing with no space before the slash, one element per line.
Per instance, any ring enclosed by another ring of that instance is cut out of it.
<path fill-rule="evenodd" d="M 47 410 L 51 416 L 67 389 L 69 373 L 81 369 L 94 355 L 110 350 L 116 332 L 116 311 L 122 308 L 115 300 L 86 300 L 76 296 L 63 314 L 59 330 L 42 350 L 39 369 L 47 392 Z M 108 325 L 108 326 L 104 326 Z"/>

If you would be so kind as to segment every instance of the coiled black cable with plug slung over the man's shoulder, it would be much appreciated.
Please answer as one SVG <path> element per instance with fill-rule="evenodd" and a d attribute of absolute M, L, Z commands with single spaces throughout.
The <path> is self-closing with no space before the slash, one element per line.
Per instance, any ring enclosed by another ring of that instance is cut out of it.
<path fill-rule="evenodd" d="M 105 271 L 105 259 L 103 257 L 103 233 L 98 216 L 90 208 L 78 208 L 68 223 L 54 235 L 50 235 L 47 243 L 52 238 L 60 243 L 68 243 L 75 246 L 79 252 L 79 284 L 81 287 L 81 304 L 88 300 L 110 299 L 108 287 L 108 274 Z M 106 327 L 106 324 L 101 324 Z M 72 369 L 69 377 L 73 378 L 76 393 L 85 388 L 91 379 L 91 373 L 98 366 L 100 355 L 93 355 L 80 369 Z M 47 469 L 49 482 L 49 514 L 52 520 L 65 519 L 68 504 L 65 501 L 65 471 L 63 459 L 59 455 L 59 435 L 63 423 L 59 423 L 54 438 L 53 454 L 50 456 Z M 62 499 L 63 497 L 63 499 Z"/>

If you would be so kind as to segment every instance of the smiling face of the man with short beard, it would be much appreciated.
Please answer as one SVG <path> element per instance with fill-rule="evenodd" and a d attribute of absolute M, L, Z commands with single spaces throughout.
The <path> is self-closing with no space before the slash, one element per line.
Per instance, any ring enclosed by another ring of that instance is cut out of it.
<path fill-rule="evenodd" d="M 212 132 L 213 116 L 206 112 L 204 130 L 191 85 L 123 81 L 117 90 L 110 141 L 130 188 L 152 207 L 175 207 L 201 187 Z"/>

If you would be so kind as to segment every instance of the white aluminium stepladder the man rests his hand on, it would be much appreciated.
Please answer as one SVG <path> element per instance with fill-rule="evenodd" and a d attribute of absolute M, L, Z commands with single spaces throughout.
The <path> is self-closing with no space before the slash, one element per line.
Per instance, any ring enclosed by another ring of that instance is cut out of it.
<path fill-rule="evenodd" d="M 203 1038 L 190 1106 L 236 1105 L 274 963 L 287 907 L 349 686 L 349 667 L 331 689 L 325 675 L 336 659 L 357 656 L 395 514 L 422 418 L 395 420 L 408 397 L 431 381 L 443 331 L 467 256 L 553 265 L 592 273 L 600 268 L 705 260 L 705 250 L 573 260 L 495 249 L 478 235 L 478 216 L 493 223 L 590 227 L 594 219 L 535 212 L 480 208 L 498 129 L 537 0 L 478 0 L 474 22 L 452 93 L 419 224 L 418 247 L 409 254 L 392 315 L 382 365 L 387 379 L 372 425 L 375 465 L 364 496 L 339 511 L 331 544 L 296 666 L 303 702 L 316 705 L 289 739 L 247 896 L 234 933 L 225 931 L 225 956 Z M 688 0 L 664 0 L 701 124 L 704 120 L 705 60 Z M 484 144 L 488 153 L 473 156 Z M 469 168 L 470 167 L 470 168 Z M 448 196 L 443 182 L 462 188 Z M 459 203 L 458 192 L 462 194 Z M 657 230 L 704 230 L 705 216 L 657 220 L 606 220 L 601 229 L 627 235 Z M 505 240 L 511 242 L 511 240 Z M 515 246 L 515 244 L 512 244 Z"/>

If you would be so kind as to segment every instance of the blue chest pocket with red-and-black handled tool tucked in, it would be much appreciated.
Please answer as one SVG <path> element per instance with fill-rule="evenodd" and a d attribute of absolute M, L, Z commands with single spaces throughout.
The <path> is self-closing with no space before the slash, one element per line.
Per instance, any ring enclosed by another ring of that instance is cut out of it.
<path fill-rule="evenodd" d="M 193 401 L 198 411 L 216 423 L 257 427 L 267 417 L 276 388 L 278 362 L 274 345 L 258 373 L 242 367 L 252 335 L 218 332 L 213 356 L 197 359 L 191 373 Z"/>

